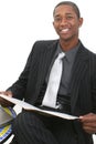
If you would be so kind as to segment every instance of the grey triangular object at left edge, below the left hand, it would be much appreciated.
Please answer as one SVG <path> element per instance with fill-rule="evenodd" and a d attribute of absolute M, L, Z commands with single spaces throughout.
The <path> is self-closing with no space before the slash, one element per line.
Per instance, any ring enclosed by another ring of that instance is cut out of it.
<path fill-rule="evenodd" d="M 0 106 L 0 127 L 9 125 L 13 117 L 8 114 L 2 106 Z"/>

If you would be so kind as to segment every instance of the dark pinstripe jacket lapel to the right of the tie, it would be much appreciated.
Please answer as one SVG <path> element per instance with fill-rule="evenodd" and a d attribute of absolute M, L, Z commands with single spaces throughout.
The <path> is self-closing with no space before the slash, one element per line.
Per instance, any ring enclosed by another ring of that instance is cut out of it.
<path fill-rule="evenodd" d="M 87 51 L 81 44 L 78 52 L 76 54 L 76 58 L 75 58 L 73 72 L 72 72 L 72 79 L 71 79 L 71 86 L 70 86 L 72 112 L 74 111 L 74 107 L 77 101 L 81 81 L 83 80 L 83 76 L 87 72 L 87 66 L 88 66 L 87 62 L 88 62 Z"/>

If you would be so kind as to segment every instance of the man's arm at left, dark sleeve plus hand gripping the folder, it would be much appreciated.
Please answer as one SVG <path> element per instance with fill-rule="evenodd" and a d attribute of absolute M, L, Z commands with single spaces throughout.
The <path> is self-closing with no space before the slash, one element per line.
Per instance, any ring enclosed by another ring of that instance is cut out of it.
<path fill-rule="evenodd" d="M 0 94 L 4 94 L 8 96 L 13 96 L 17 99 L 23 99 L 25 90 L 26 90 L 26 83 L 28 83 L 28 76 L 31 65 L 31 59 L 32 59 L 32 51 L 28 58 L 26 64 L 22 73 L 20 74 L 18 81 L 15 81 L 7 91 L 1 91 Z M 12 103 L 9 103 L 8 101 L 0 97 L 0 104 L 3 106 L 12 105 Z"/>

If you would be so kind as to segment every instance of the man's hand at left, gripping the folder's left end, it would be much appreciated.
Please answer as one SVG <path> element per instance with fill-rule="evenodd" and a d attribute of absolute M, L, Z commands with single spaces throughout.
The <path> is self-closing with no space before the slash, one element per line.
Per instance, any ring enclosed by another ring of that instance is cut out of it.
<path fill-rule="evenodd" d="M 2 92 L 0 92 L 0 94 L 3 94 L 3 95 L 7 95 L 7 96 L 11 96 L 11 97 L 12 97 L 12 92 L 11 92 L 11 91 L 2 91 Z M 9 102 L 9 101 L 2 99 L 2 97 L 0 97 L 0 104 L 1 104 L 2 106 L 12 106 L 12 105 L 13 105 L 13 103 L 11 103 L 11 102 Z"/>

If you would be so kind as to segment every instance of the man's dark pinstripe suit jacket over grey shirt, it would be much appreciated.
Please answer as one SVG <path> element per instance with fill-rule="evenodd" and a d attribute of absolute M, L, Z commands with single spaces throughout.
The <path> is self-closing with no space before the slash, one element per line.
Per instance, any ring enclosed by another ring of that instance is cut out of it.
<path fill-rule="evenodd" d="M 56 51 L 57 42 L 58 40 L 34 43 L 23 72 L 10 88 L 14 97 L 24 97 L 31 104 L 36 101 Z M 96 113 L 96 55 L 82 43 L 75 58 L 70 91 L 73 115 Z M 79 134 L 81 144 L 92 144 L 90 135 L 83 132 L 79 122 L 76 121 L 74 124 Z"/>

